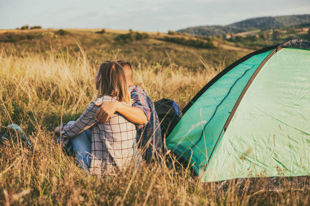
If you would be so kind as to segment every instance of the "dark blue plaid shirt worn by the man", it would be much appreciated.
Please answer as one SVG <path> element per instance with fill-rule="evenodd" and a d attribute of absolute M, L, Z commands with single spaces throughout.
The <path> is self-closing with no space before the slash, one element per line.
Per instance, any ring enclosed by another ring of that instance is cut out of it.
<path fill-rule="evenodd" d="M 132 84 L 130 86 L 130 98 L 132 106 L 141 108 L 147 116 L 147 124 L 137 125 L 137 141 L 141 154 L 146 159 L 158 157 L 162 150 L 161 125 L 156 113 L 154 103 L 147 93 L 140 87 Z"/>

